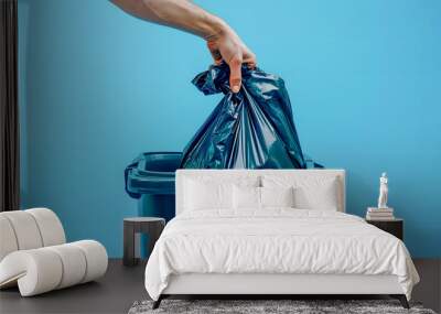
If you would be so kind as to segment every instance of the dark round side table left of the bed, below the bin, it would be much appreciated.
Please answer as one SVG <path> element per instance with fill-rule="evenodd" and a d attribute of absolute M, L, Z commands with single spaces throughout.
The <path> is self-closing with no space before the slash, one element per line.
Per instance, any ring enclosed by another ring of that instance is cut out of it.
<path fill-rule="evenodd" d="M 165 219 L 159 217 L 132 217 L 123 219 L 123 266 L 136 266 L 139 258 L 135 256 L 136 234 L 149 236 L 149 255 L 165 227 Z"/>

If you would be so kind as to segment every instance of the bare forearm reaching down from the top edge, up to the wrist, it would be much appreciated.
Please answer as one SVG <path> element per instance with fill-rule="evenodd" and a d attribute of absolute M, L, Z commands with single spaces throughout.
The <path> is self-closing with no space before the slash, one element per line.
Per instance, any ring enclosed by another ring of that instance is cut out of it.
<path fill-rule="evenodd" d="M 227 31 L 226 23 L 187 0 L 111 0 L 126 12 L 205 40 Z"/>

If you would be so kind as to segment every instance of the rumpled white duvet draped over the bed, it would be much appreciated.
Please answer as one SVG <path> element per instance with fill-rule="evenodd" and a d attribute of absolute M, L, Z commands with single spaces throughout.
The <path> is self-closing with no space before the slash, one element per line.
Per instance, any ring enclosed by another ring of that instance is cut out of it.
<path fill-rule="evenodd" d="M 338 212 L 197 210 L 172 219 L 146 268 L 158 300 L 171 274 L 395 274 L 410 299 L 418 273 L 402 241 Z"/>

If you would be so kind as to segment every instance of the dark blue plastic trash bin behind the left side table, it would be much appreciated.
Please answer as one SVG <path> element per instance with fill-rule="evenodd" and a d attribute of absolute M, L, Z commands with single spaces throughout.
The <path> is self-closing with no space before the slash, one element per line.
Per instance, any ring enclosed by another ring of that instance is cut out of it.
<path fill-rule="evenodd" d="M 166 221 L 175 214 L 175 171 L 181 152 L 141 153 L 126 167 L 126 192 L 138 202 L 138 215 L 162 217 Z M 147 256 L 147 238 L 141 236 L 140 256 Z"/>

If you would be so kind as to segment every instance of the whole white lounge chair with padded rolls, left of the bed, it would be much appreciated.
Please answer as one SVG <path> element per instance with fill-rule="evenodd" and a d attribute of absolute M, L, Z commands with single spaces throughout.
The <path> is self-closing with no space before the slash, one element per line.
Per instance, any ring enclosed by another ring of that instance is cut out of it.
<path fill-rule="evenodd" d="M 0 289 L 19 285 L 23 296 L 83 283 L 107 270 L 97 241 L 64 243 L 63 226 L 47 208 L 0 213 Z"/>

